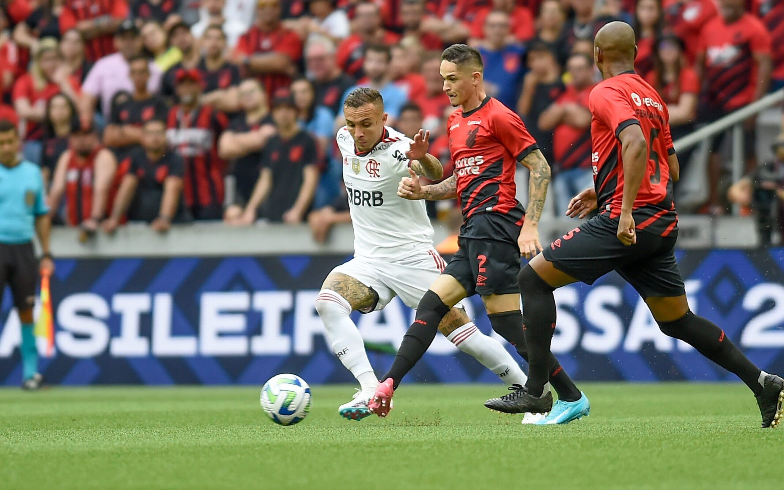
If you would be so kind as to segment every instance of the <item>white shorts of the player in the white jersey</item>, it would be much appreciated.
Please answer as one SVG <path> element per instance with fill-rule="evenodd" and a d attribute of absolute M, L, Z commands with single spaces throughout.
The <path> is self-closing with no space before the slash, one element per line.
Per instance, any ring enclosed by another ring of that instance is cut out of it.
<path fill-rule="evenodd" d="M 419 306 L 419 299 L 445 267 L 445 260 L 435 249 L 421 249 L 405 259 L 394 261 L 354 257 L 332 272 L 346 274 L 376 291 L 379 303 L 375 310 L 381 310 L 395 296 L 400 296 L 407 307 Z"/>

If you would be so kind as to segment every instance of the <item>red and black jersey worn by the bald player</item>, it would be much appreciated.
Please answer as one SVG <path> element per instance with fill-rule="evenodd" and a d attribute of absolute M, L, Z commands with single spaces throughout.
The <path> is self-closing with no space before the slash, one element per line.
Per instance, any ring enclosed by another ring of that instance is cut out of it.
<path fill-rule="evenodd" d="M 621 215 L 623 201 L 623 129 L 640 125 L 648 142 L 645 176 L 634 199 L 637 230 L 661 236 L 677 233 L 677 212 L 667 157 L 675 153 L 670 135 L 670 111 L 659 93 L 633 71 L 599 83 L 590 93 L 593 180 L 597 207 L 612 219 Z"/>

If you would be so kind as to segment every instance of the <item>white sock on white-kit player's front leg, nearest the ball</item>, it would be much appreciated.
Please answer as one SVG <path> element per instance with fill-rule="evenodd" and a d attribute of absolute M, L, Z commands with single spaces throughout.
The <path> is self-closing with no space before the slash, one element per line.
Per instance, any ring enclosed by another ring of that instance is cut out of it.
<path fill-rule="evenodd" d="M 376 390 L 379 384 L 365 353 L 365 342 L 357 325 L 351 321 L 351 305 L 343 296 L 322 289 L 315 302 L 316 311 L 324 322 L 327 340 L 340 362 L 357 378 L 362 390 Z"/>

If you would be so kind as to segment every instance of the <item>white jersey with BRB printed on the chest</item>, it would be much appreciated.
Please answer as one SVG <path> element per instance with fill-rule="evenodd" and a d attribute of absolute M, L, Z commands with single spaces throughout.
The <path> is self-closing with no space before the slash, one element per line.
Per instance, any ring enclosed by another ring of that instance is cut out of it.
<path fill-rule="evenodd" d="M 336 136 L 343 154 L 351 223 L 354 225 L 354 256 L 398 259 L 412 251 L 433 247 L 433 227 L 425 201 L 397 195 L 397 185 L 408 175 L 408 151 L 412 140 L 385 127 L 382 140 L 367 153 L 358 153 L 346 126 Z"/>

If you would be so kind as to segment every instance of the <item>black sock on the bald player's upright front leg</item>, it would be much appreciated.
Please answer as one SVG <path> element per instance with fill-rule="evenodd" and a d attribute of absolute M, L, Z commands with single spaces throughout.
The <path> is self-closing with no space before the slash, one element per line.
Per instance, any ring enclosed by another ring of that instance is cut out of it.
<path fill-rule="evenodd" d="M 541 396 L 550 377 L 550 341 L 555 331 L 554 289 L 527 265 L 517 276 L 523 301 L 523 328 L 528 344 L 528 383 L 531 394 Z M 563 371 L 563 369 L 561 369 Z"/>

